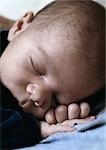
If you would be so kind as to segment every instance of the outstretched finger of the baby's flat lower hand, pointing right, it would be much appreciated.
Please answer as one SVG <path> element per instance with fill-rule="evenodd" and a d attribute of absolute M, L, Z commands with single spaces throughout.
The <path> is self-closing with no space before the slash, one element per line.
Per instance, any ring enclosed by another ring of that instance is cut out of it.
<path fill-rule="evenodd" d="M 87 117 L 85 119 L 66 120 L 62 124 L 73 127 L 74 125 L 84 124 L 84 123 L 87 123 L 87 122 L 92 121 L 94 119 L 95 119 L 95 116 L 90 116 L 90 117 Z"/>

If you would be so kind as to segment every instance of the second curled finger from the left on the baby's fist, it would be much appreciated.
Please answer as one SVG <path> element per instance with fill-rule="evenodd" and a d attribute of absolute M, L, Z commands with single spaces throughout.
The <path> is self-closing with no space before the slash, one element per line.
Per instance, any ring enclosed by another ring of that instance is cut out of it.
<path fill-rule="evenodd" d="M 59 105 L 55 109 L 55 116 L 58 123 L 63 122 L 64 120 L 67 120 L 67 113 L 68 108 L 65 105 Z"/>

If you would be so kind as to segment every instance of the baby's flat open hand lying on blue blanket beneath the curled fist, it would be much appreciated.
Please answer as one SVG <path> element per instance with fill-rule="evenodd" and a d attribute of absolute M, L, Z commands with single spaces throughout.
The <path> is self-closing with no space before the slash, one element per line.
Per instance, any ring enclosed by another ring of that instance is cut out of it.
<path fill-rule="evenodd" d="M 51 125 L 45 121 L 41 121 L 41 136 L 42 138 L 46 138 L 57 132 L 73 132 L 75 131 L 74 128 L 75 124 L 87 123 L 94 119 L 95 117 L 91 116 L 84 119 L 65 120 L 62 123 L 51 124 Z"/>

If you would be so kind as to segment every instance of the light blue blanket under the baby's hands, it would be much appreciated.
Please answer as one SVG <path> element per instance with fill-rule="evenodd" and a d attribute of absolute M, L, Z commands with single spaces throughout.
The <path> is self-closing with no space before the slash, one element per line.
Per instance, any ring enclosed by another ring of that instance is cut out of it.
<path fill-rule="evenodd" d="M 106 149 L 106 111 L 83 125 L 76 125 L 76 132 L 56 133 L 40 144 L 20 150 L 105 150 Z"/>

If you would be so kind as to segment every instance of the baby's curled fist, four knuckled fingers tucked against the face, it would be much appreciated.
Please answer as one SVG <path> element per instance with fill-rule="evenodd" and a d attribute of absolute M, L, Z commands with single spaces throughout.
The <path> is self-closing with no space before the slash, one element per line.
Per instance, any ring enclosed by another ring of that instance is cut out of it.
<path fill-rule="evenodd" d="M 72 103 L 68 106 L 58 105 L 50 108 L 45 115 L 45 120 L 49 124 L 62 123 L 65 120 L 86 118 L 89 115 L 90 106 L 86 102 L 80 104 Z"/>

